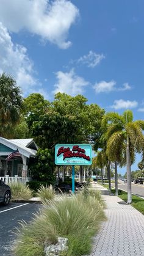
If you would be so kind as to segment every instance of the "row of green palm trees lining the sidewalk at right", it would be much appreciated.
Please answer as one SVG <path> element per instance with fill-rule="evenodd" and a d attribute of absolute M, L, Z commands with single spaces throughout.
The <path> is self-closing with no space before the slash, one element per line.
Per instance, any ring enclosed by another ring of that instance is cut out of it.
<path fill-rule="evenodd" d="M 102 120 L 104 147 L 97 155 L 97 166 L 107 166 L 110 191 L 109 163 L 115 163 L 115 194 L 118 194 L 117 165 L 126 166 L 128 180 L 128 203 L 132 202 L 131 165 L 135 161 L 135 153 L 142 153 L 144 148 L 144 121 L 133 120 L 132 111 L 124 111 L 122 115 L 108 112 Z"/>

